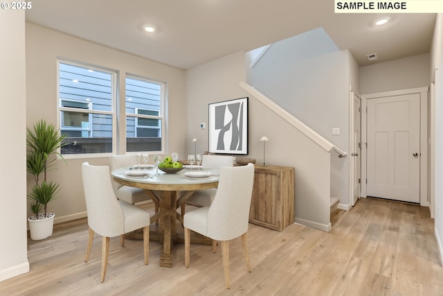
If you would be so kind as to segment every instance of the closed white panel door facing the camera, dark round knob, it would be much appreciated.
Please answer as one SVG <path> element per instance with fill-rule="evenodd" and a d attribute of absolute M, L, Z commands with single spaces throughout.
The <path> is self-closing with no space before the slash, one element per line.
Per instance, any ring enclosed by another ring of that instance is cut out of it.
<path fill-rule="evenodd" d="M 420 202 L 420 96 L 368 100 L 368 196 Z"/>

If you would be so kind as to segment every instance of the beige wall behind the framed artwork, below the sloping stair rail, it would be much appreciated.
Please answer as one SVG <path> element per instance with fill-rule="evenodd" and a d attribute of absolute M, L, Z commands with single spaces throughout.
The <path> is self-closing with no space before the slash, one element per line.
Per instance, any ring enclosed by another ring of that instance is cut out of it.
<path fill-rule="evenodd" d="M 198 123 L 207 122 L 208 103 L 248 96 L 248 157 L 263 162 L 260 138 L 269 137 L 266 164 L 296 170 L 296 221 L 327 230 L 330 154 L 239 87 L 246 75 L 245 62 L 245 53 L 239 52 L 188 70 L 188 152 L 194 151 L 193 137 L 201 141 L 198 152 L 207 150 L 208 131 L 199 130 Z"/>

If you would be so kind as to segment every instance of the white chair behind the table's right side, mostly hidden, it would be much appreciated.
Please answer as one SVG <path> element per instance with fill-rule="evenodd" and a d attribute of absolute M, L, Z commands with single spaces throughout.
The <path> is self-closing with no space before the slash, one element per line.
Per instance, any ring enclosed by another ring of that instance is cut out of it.
<path fill-rule="evenodd" d="M 203 155 L 201 159 L 202 168 L 216 168 L 220 169 L 221 166 L 233 166 L 234 157 L 228 155 Z M 197 207 L 207 207 L 213 202 L 216 188 L 197 190 L 186 200 L 187 204 L 192 204 Z M 185 204 L 181 205 L 181 215 L 185 214 Z"/>

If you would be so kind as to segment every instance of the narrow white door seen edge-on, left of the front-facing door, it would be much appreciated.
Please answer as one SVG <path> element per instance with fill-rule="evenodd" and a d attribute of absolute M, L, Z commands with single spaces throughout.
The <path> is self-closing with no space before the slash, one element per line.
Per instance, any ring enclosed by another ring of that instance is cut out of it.
<path fill-rule="evenodd" d="M 360 170 L 360 161 L 361 161 L 361 133 L 360 133 L 360 127 L 361 127 L 361 108 L 360 108 L 360 98 L 356 96 L 356 94 L 353 94 L 353 103 L 352 103 L 352 128 L 354 130 L 354 133 L 352 135 L 352 182 L 354 184 L 353 186 L 353 193 L 352 193 L 352 205 L 357 202 L 357 200 L 360 198 L 360 177 L 361 177 L 361 170 Z"/>

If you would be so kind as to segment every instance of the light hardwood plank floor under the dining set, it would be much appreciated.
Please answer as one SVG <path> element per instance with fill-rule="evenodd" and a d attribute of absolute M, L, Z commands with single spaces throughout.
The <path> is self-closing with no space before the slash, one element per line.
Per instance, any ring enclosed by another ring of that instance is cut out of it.
<path fill-rule="evenodd" d="M 443 295 L 443 269 L 433 219 L 417 205 L 362 198 L 350 211 L 336 210 L 328 233 L 302 225 L 276 232 L 250 224 L 252 272 L 241 241 L 230 246 L 232 288 L 224 286 L 221 250 L 174 247 L 174 267 L 159 266 L 160 244 L 111 238 L 107 277 L 100 284 L 101 239 L 88 263 L 87 224 L 56 225 L 51 238 L 29 241 L 30 272 L 0 282 L 0 295 Z"/>

